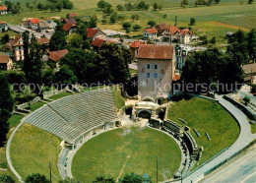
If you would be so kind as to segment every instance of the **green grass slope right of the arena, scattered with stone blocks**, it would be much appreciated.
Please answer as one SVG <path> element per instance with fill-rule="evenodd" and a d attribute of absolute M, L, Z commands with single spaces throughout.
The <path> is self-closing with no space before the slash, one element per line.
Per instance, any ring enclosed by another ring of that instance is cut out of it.
<path fill-rule="evenodd" d="M 168 110 L 168 118 L 183 126 L 184 123 L 178 118 L 187 121 L 197 145 L 204 147 L 200 164 L 230 146 L 239 135 L 239 127 L 234 118 L 215 101 L 192 97 L 173 102 Z M 194 128 L 201 134 L 200 138 L 193 131 Z M 211 141 L 207 140 L 206 132 Z"/>

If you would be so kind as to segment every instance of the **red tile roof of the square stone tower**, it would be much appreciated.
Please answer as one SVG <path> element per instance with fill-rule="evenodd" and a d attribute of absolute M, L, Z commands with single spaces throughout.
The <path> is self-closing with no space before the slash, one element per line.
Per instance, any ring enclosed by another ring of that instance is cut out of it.
<path fill-rule="evenodd" d="M 172 56 L 173 46 L 171 45 L 144 44 L 140 45 L 137 58 L 172 59 Z"/>

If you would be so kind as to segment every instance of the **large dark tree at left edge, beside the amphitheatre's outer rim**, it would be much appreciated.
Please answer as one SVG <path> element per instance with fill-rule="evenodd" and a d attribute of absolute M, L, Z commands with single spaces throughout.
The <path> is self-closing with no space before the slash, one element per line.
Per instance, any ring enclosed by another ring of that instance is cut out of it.
<path fill-rule="evenodd" d="M 13 111 L 14 100 L 8 79 L 1 73 L 0 84 L 0 147 L 2 147 L 9 131 L 8 119 L 11 117 L 11 112 Z"/>

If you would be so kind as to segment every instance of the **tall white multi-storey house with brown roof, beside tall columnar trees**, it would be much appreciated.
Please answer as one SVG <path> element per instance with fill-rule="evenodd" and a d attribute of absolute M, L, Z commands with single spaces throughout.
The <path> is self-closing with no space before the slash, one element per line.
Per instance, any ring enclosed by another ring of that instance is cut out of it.
<path fill-rule="evenodd" d="M 24 60 L 24 43 L 21 34 L 16 35 L 13 40 L 10 40 L 6 47 L 9 48 L 15 60 Z"/>

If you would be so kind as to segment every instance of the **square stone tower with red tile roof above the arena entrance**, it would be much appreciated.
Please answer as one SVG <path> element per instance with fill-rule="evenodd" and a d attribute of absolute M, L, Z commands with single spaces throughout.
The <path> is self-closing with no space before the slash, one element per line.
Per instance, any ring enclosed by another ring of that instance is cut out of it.
<path fill-rule="evenodd" d="M 138 50 L 138 92 L 167 97 L 172 91 L 175 51 L 171 45 L 142 44 Z"/>

